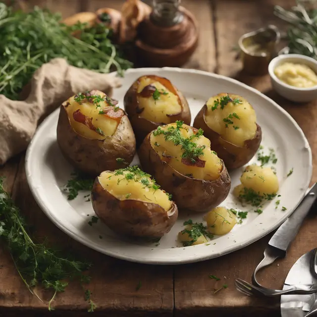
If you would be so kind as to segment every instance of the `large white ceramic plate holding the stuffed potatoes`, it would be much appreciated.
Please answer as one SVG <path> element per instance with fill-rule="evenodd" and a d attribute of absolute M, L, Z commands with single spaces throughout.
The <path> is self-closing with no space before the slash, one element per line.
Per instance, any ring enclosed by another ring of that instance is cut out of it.
<path fill-rule="evenodd" d="M 245 97 L 256 110 L 262 127 L 264 151 L 275 150 L 275 168 L 280 183 L 281 197 L 267 203 L 263 213 L 255 208 L 241 207 L 230 193 L 221 204 L 228 208 L 249 211 L 242 224 L 224 236 L 216 236 L 208 244 L 184 248 L 177 242 L 177 233 L 184 220 L 202 221 L 203 214 L 180 214 L 176 224 L 159 243 L 134 242 L 117 236 L 98 221 L 90 226 L 94 215 L 90 202 L 83 192 L 72 201 L 61 190 L 70 178 L 72 166 L 61 155 L 56 142 L 56 125 L 59 109 L 55 110 L 38 128 L 26 156 L 26 173 L 31 191 L 48 217 L 64 232 L 82 244 L 106 255 L 148 264 L 183 264 L 216 258 L 241 249 L 280 225 L 299 204 L 312 176 L 312 155 L 309 144 L 295 120 L 259 91 L 234 79 L 208 72 L 178 68 L 140 68 L 125 73 L 122 87 L 114 91 L 113 98 L 123 107 L 123 97 L 130 85 L 141 75 L 156 74 L 167 77 L 184 93 L 194 120 L 197 112 L 212 95 L 229 92 Z M 114 76 L 115 74 L 113 74 Z M 256 162 L 256 157 L 251 162 Z M 132 163 L 137 163 L 136 157 Z M 291 168 L 294 172 L 287 177 Z M 230 173 L 232 189 L 238 185 L 243 168 Z M 280 205 L 275 209 L 275 201 Z M 281 207 L 287 208 L 281 211 Z M 102 237 L 102 238 L 101 238 Z"/>

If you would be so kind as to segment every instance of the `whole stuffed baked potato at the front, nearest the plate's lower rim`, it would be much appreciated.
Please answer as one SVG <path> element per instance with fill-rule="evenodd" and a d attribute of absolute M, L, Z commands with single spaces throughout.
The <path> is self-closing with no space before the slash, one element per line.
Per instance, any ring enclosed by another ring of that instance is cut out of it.
<path fill-rule="evenodd" d="M 98 217 L 113 231 L 155 239 L 167 233 L 178 215 L 170 195 L 138 166 L 104 171 L 91 193 Z"/>

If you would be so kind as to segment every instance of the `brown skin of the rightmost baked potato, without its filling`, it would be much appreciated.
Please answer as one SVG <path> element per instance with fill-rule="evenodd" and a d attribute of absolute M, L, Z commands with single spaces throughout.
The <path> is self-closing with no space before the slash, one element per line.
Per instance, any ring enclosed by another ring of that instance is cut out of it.
<path fill-rule="evenodd" d="M 260 125 L 257 124 L 256 135 L 252 140 L 246 140 L 243 147 L 236 146 L 224 139 L 211 130 L 205 121 L 205 112 L 207 111 L 207 105 L 203 106 L 198 112 L 193 126 L 196 129 L 202 128 L 204 130 L 204 136 L 211 141 L 212 150 L 215 151 L 220 159 L 223 160 L 225 166 L 230 170 L 239 168 L 247 164 L 257 153 L 261 141 L 262 130 Z"/>

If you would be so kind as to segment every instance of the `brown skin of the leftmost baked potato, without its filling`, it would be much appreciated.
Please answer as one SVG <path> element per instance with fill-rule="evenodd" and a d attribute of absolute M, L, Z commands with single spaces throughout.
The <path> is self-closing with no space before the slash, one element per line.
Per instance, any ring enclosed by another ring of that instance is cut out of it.
<path fill-rule="evenodd" d="M 91 140 L 79 135 L 71 127 L 66 112 L 67 102 L 60 106 L 57 123 L 57 143 L 63 156 L 78 170 L 98 176 L 104 170 L 126 167 L 136 151 L 135 136 L 126 114 L 116 131 L 105 140 Z M 116 158 L 126 162 L 117 162 Z"/>

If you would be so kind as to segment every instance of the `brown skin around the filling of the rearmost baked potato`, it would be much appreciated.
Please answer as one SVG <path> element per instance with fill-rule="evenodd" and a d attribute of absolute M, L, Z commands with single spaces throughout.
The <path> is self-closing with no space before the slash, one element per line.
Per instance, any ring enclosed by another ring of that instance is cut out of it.
<path fill-rule="evenodd" d="M 142 76 L 144 77 L 144 76 Z M 129 88 L 124 96 L 124 109 L 128 114 L 129 120 L 133 127 L 133 131 L 136 137 L 137 146 L 139 146 L 148 133 L 155 130 L 158 126 L 162 125 L 162 123 L 153 122 L 142 118 L 139 116 L 140 107 L 137 100 L 137 90 L 139 86 L 139 80 L 142 78 L 138 78 Z M 168 90 L 170 90 L 173 94 L 177 95 L 180 99 L 182 111 L 180 113 L 170 115 L 171 122 L 176 122 L 177 120 L 184 121 L 185 124 L 190 125 L 191 123 L 191 113 L 187 103 L 186 98 L 183 94 L 178 91 L 172 83 L 163 77 L 148 75 L 147 77 L 158 80 L 161 84 L 163 84 Z"/>

